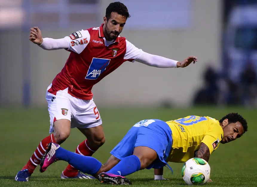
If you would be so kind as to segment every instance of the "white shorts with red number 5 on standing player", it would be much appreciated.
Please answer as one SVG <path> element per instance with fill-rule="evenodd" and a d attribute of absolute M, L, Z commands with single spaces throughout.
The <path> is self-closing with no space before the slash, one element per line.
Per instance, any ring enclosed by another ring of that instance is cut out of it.
<path fill-rule="evenodd" d="M 53 132 L 53 122 L 58 119 L 70 120 L 71 128 L 91 128 L 102 124 L 102 119 L 93 99 L 75 98 L 68 94 L 68 88 L 59 90 L 56 95 L 53 95 L 48 92 L 51 86 L 52 84 L 48 86 L 45 96 L 50 115 L 49 133 Z"/>

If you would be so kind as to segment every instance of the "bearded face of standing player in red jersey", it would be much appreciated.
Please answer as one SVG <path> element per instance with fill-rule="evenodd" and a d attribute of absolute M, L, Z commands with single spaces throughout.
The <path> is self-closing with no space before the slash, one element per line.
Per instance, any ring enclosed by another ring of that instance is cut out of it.
<path fill-rule="evenodd" d="M 103 26 L 103 32 L 105 39 L 108 41 L 111 41 L 113 39 L 116 39 L 119 34 L 121 33 L 127 18 L 121 16 L 117 12 L 112 12 L 110 19 L 107 21 L 107 18 L 104 17 L 104 26 Z"/>

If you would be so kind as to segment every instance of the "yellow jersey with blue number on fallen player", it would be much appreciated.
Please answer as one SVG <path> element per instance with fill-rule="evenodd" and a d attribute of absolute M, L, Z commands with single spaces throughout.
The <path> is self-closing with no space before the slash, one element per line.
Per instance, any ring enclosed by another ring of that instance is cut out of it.
<path fill-rule="evenodd" d="M 201 142 L 208 146 L 211 154 L 223 137 L 219 121 L 208 116 L 190 115 L 166 123 L 172 130 L 173 139 L 167 162 L 186 162 L 196 157 Z"/>

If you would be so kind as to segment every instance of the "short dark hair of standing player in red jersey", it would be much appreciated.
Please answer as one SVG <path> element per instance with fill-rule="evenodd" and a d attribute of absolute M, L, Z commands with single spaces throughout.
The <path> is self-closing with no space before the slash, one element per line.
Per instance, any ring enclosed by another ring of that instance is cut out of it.
<path fill-rule="evenodd" d="M 124 16 L 127 19 L 130 17 L 127 7 L 121 2 L 110 3 L 106 8 L 105 17 L 107 18 L 107 21 L 110 19 L 112 12 L 117 12 L 119 15 Z"/>

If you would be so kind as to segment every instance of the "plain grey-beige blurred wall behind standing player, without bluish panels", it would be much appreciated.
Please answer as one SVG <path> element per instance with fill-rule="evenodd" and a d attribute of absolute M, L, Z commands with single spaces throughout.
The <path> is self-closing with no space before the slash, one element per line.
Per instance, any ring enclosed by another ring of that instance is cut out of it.
<path fill-rule="evenodd" d="M 101 1 L 102 17 L 110 2 L 112 1 Z M 193 24 L 189 29 L 126 30 L 125 26 L 121 35 L 145 52 L 174 60 L 195 55 L 198 63 L 185 69 L 157 69 L 138 62 L 125 62 L 94 86 L 97 106 L 151 106 L 160 105 L 163 101 L 170 101 L 181 107 L 191 104 L 195 91 L 203 86 L 202 73 L 206 66 L 211 63 L 219 68 L 221 65 L 221 0 L 194 0 L 192 10 Z M 81 28 L 56 31 L 41 28 L 43 37 L 52 38 L 65 37 L 78 29 Z M 31 42 L 24 45 L 23 38 L 28 38 L 28 34 L 28 31 L 0 33 L 0 102 L 3 106 L 23 103 L 22 78 L 26 73 L 22 61 L 26 59 L 22 55 L 24 51 L 30 51 L 28 72 L 31 106 L 47 106 L 46 88 L 68 58 L 69 52 L 65 50 L 45 51 Z"/>

